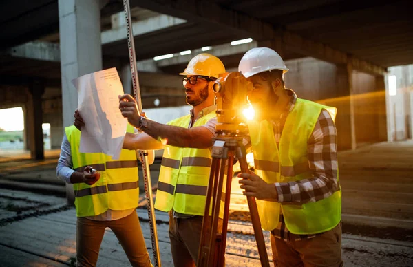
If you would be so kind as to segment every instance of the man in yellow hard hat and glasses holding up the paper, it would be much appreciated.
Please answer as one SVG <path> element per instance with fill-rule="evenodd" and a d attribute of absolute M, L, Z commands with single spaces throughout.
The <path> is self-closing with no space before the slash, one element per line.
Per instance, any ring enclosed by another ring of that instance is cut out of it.
<path fill-rule="evenodd" d="M 169 212 L 169 238 L 175 266 L 194 266 L 204 215 L 212 138 L 217 123 L 213 82 L 225 72 L 224 64 L 211 54 L 198 54 L 180 73 L 190 114 L 166 125 L 140 116 L 129 94 L 120 97 L 120 111 L 143 133 L 125 136 L 125 149 L 165 149 L 155 208 Z M 78 123 L 82 124 L 80 118 Z"/>

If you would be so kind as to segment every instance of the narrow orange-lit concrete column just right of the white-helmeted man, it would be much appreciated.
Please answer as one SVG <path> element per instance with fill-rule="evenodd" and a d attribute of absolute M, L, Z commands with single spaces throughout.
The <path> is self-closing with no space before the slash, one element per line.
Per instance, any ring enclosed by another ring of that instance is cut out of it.
<path fill-rule="evenodd" d="M 338 98 L 332 104 L 337 107 L 337 145 L 339 150 L 356 149 L 352 66 L 337 65 L 336 78 Z"/>

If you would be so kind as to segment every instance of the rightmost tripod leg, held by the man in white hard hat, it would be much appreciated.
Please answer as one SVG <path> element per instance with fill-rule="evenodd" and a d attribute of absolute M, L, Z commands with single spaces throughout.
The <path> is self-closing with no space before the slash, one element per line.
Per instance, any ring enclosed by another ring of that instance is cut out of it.
<path fill-rule="evenodd" d="M 240 160 L 240 167 L 243 173 L 249 173 L 248 163 L 246 162 L 245 153 L 242 153 L 242 157 L 238 157 Z M 246 197 L 248 207 L 251 215 L 251 222 L 253 223 L 255 242 L 257 242 L 258 254 L 260 255 L 261 266 L 270 267 L 268 261 L 268 253 L 266 251 L 264 235 L 261 229 L 260 216 L 258 215 L 257 202 L 255 197 Z"/>

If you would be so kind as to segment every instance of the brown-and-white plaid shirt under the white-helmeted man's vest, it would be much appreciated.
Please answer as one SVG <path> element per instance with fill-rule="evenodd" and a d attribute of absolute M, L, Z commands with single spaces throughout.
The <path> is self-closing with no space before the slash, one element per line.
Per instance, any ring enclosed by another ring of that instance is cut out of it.
<path fill-rule="evenodd" d="M 287 94 L 291 96 L 286 110 L 280 116 L 279 120 L 273 121 L 275 140 L 279 145 L 282 129 L 284 128 L 286 118 L 290 111 L 295 107 L 297 95 L 293 90 L 287 89 Z M 315 171 L 313 178 L 299 180 L 295 182 L 275 183 L 278 193 L 278 202 L 284 204 L 304 204 L 316 202 L 330 197 L 335 191 L 340 189 L 337 162 L 337 129 L 326 109 L 323 109 L 314 127 L 313 133 L 308 140 L 307 153 L 308 164 L 310 169 Z M 279 215 L 279 224 L 271 231 L 279 239 L 301 240 L 312 238 L 315 235 L 295 235 L 288 231 L 284 222 L 284 216 Z"/>

